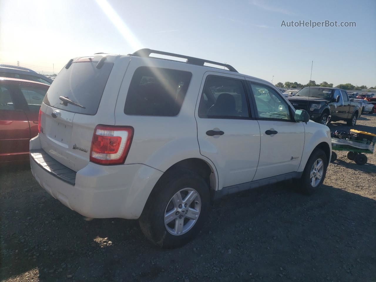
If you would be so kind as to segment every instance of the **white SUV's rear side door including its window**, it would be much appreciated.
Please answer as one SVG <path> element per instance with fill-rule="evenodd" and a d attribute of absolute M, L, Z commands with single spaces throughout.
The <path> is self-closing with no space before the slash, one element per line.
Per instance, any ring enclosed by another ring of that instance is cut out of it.
<path fill-rule="evenodd" d="M 218 171 L 219 187 L 250 182 L 260 152 L 260 128 L 251 111 L 244 77 L 207 72 L 196 107 L 201 155 Z"/>

